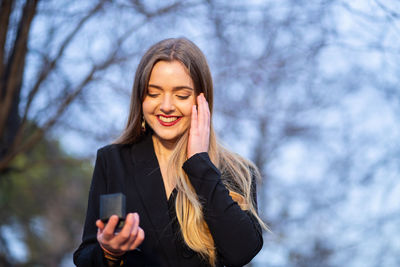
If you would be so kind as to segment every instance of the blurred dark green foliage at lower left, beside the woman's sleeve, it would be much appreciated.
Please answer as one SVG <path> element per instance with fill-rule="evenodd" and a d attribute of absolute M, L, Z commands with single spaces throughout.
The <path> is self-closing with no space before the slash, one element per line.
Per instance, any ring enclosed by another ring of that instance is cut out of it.
<path fill-rule="evenodd" d="M 56 140 L 43 139 L 14 159 L 0 180 L 1 266 L 13 266 L 12 256 L 23 259 L 16 266 L 63 261 L 81 235 L 92 170 L 89 160 L 68 156 Z"/>

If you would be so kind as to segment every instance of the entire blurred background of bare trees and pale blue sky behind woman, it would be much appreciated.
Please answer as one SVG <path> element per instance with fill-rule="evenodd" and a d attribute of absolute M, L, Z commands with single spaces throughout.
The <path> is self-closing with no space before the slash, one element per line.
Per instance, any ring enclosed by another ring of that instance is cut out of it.
<path fill-rule="evenodd" d="M 400 266 L 400 3 L 1 0 L 0 265 L 71 266 L 138 60 L 206 54 L 221 140 L 263 174 L 251 266 Z"/>

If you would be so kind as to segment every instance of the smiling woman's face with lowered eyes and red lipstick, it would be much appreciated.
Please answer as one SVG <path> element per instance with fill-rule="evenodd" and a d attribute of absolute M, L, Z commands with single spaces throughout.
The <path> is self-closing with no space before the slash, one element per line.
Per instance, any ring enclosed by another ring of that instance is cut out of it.
<path fill-rule="evenodd" d="M 190 126 L 195 101 L 192 78 L 181 62 L 159 61 L 154 65 L 142 107 L 157 138 L 177 141 Z"/>

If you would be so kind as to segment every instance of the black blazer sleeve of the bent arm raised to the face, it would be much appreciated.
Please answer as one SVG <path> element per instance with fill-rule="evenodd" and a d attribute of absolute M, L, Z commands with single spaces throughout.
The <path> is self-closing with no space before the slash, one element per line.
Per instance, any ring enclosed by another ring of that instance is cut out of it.
<path fill-rule="evenodd" d="M 183 169 L 202 202 L 204 218 L 222 263 L 243 266 L 250 262 L 263 245 L 258 222 L 229 196 L 208 153 L 195 154 L 184 163 Z M 255 184 L 252 187 L 256 198 Z"/>

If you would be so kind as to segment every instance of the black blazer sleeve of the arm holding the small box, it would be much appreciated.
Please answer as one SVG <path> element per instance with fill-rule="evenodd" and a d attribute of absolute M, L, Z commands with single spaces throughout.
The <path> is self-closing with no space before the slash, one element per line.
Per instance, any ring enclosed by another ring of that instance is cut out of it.
<path fill-rule="evenodd" d="M 74 253 L 74 263 L 78 267 L 106 266 L 103 251 L 96 237 L 96 220 L 99 218 L 99 196 L 104 192 L 106 192 L 105 161 L 102 157 L 102 150 L 98 150 L 90 185 L 82 243 Z"/>

